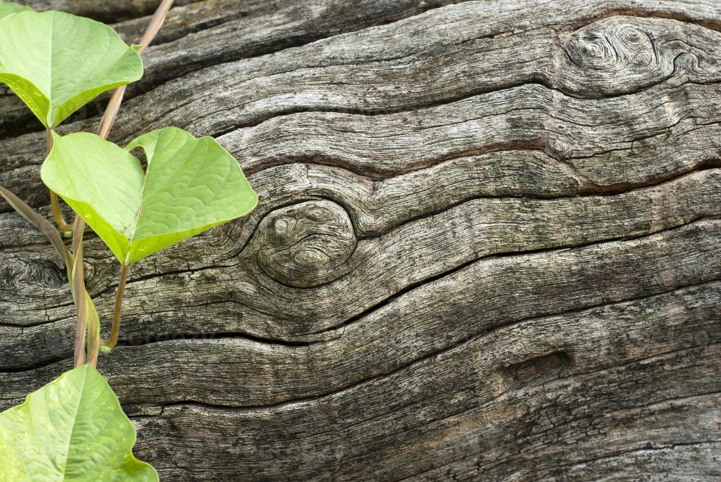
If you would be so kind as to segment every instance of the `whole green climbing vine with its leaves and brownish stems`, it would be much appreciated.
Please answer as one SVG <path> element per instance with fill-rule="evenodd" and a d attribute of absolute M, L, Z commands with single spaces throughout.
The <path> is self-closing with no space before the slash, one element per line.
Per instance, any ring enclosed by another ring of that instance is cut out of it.
<path fill-rule="evenodd" d="M 77 313 L 74 369 L 0 414 L 0 482 L 158 480 L 154 468 L 133 457 L 135 428 L 95 370 L 98 353 L 118 342 L 123 289 L 133 263 L 257 204 L 238 162 L 213 138 L 163 128 L 125 148 L 105 140 L 122 86 L 143 74 L 138 53 L 171 4 L 162 1 L 142 45 L 133 48 L 93 20 L 0 0 L 0 82 L 48 132 L 40 174 L 61 231 L 7 189 L 0 187 L 0 196 L 50 239 L 65 264 Z M 79 107 L 118 87 L 100 135 L 54 131 Z M 133 153 L 144 155 L 146 169 Z M 58 195 L 75 211 L 73 223 L 63 219 Z M 120 262 L 109 339 L 100 338 L 100 320 L 83 280 L 86 223 Z M 64 241 L 69 235 L 72 241 Z"/>

